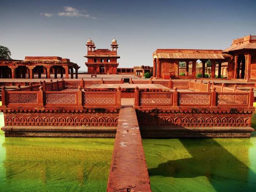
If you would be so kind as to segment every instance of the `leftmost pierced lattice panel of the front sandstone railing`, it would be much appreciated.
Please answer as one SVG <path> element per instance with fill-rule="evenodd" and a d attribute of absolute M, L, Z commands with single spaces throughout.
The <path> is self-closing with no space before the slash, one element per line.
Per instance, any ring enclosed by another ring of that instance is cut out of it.
<path fill-rule="evenodd" d="M 8 103 L 38 103 L 37 93 L 8 93 Z"/>

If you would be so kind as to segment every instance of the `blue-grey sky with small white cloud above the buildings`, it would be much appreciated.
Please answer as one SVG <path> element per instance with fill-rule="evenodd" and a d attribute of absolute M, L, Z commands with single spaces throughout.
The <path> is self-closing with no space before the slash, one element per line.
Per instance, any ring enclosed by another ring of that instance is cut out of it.
<path fill-rule="evenodd" d="M 153 65 L 157 48 L 225 49 L 256 35 L 256 1 L 1 1 L 0 45 L 12 59 L 60 56 L 87 70 L 86 41 L 119 44 L 119 67 Z"/>

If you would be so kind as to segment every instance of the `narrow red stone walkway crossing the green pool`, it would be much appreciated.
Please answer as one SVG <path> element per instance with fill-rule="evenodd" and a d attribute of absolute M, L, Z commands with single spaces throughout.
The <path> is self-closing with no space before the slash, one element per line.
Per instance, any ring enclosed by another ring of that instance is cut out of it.
<path fill-rule="evenodd" d="M 150 192 L 150 181 L 135 109 L 120 109 L 108 192 Z"/>

